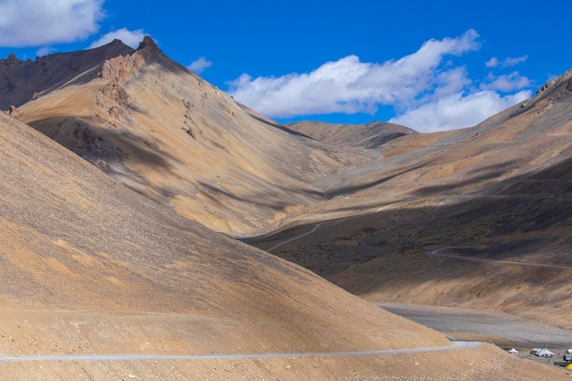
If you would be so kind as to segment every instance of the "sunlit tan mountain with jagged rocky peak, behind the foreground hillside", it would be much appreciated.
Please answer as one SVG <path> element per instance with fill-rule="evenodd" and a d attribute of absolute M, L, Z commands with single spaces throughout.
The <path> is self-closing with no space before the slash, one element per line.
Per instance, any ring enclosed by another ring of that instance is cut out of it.
<path fill-rule="evenodd" d="M 26 103 L 19 119 L 208 228 L 271 228 L 323 202 L 323 175 L 375 158 L 315 142 L 250 111 L 164 56 L 146 37 L 97 79 Z"/>

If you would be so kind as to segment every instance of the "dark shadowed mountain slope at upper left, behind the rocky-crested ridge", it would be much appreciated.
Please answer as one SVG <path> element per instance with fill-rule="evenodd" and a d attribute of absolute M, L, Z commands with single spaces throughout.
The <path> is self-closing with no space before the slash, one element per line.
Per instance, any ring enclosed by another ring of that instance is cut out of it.
<path fill-rule="evenodd" d="M 34 61 L 21 61 L 15 55 L 0 59 L 0 110 L 8 110 L 12 105 L 19 107 L 78 77 L 90 80 L 104 60 L 132 51 L 116 39 L 104 47 L 50 54 Z"/>

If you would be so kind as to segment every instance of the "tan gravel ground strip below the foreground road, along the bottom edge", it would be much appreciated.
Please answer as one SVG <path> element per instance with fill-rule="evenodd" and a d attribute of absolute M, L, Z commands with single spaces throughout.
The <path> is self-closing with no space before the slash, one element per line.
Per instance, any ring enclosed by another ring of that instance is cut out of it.
<path fill-rule="evenodd" d="M 3 379 L 26 380 L 567 380 L 569 371 L 507 355 L 493 344 L 450 353 L 340 357 L 0 363 Z"/>

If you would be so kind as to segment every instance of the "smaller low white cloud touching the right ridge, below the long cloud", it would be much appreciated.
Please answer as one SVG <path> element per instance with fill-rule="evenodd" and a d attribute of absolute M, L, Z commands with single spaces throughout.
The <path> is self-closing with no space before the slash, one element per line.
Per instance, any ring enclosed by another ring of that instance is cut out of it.
<path fill-rule="evenodd" d="M 531 96 L 530 90 L 506 96 L 491 90 L 478 91 L 466 96 L 458 92 L 408 110 L 389 122 L 414 126 L 418 132 L 471 127 Z"/>

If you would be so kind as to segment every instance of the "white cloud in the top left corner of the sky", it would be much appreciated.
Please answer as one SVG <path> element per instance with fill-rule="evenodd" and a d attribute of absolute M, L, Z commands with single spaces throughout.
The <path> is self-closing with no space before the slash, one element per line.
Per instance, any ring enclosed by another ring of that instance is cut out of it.
<path fill-rule="evenodd" d="M 96 33 L 103 0 L 0 0 L 0 46 L 39 47 Z"/>

